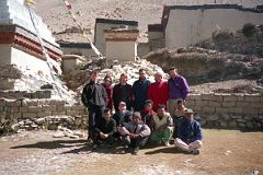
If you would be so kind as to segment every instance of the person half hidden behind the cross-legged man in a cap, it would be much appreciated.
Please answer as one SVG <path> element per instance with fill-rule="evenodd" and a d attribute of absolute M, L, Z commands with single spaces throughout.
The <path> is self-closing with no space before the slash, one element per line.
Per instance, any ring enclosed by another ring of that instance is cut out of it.
<path fill-rule="evenodd" d="M 178 101 L 178 107 L 175 108 L 175 115 L 172 117 L 173 118 L 173 138 L 178 137 L 178 128 L 181 124 L 181 121 L 184 118 L 184 110 L 185 110 L 185 106 L 183 104 L 183 101 Z"/>

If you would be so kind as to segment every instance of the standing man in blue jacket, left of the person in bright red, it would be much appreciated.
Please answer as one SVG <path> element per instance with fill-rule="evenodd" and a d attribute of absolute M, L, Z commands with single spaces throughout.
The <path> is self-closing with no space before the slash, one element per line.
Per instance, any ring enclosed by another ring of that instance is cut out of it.
<path fill-rule="evenodd" d="M 146 79 L 146 70 L 140 69 L 139 80 L 136 80 L 133 85 L 135 112 L 140 112 L 144 109 L 149 85 L 150 85 L 150 81 Z"/>

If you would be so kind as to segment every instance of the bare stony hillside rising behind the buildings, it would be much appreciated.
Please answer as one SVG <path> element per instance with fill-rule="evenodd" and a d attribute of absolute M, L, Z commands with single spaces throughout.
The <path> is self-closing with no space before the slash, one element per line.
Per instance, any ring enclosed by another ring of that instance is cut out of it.
<path fill-rule="evenodd" d="M 77 22 L 93 38 L 96 18 L 134 20 L 139 22 L 140 42 L 147 40 L 147 25 L 160 23 L 163 5 L 194 5 L 204 3 L 237 3 L 254 8 L 263 0 L 68 0 Z M 62 0 L 36 0 L 35 11 L 57 39 L 87 42 L 67 13 Z"/>

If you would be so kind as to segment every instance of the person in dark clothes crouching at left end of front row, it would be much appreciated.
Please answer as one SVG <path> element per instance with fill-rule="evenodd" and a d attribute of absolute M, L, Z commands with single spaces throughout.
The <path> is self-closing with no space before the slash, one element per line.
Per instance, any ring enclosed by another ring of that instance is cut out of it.
<path fill-rule="evenodd" d="M 116 132 L 116 121 L 112 118 L 111 110 L 104 109 L 103 118 L 95 124 L 92 136 L 93 149 L 96 149 L 102 142 L 110 147 L 114 143 L 113 135 Z"/>

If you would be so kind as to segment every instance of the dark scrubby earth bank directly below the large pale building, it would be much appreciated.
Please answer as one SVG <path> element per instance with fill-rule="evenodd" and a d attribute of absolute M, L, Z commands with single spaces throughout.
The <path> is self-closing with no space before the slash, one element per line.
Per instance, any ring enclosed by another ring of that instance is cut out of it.
<path fill-rule="evenodd" d="M 145 59 L 164 71 L 176 67 L 191 84 L 235 79 L 258 80 L 263 72 L 262 58 L 198 47 L 160 49 L 148 54 Z"/>

